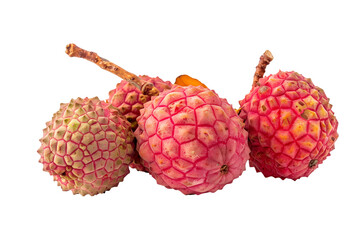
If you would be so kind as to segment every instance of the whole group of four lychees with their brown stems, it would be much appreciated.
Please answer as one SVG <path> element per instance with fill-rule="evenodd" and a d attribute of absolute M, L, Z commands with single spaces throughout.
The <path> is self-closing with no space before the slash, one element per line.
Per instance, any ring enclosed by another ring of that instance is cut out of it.
<path fill-rule="evenodd" d="M 39 162 L 64 191 L 104 193 L 131 166 L 184 194 L 215 192 L 242 175 L 248 159 L 265 177 L 296 180 L 309 176 L 338 138 L 329 99 L 309 78 L 282 71 L 263 77 L 269 51 L 238 110 L 188 75 L 172 84 L 75 44 L 66 53 L 123 80 L 108 99 L 72 99 L 46 123 Z"/>

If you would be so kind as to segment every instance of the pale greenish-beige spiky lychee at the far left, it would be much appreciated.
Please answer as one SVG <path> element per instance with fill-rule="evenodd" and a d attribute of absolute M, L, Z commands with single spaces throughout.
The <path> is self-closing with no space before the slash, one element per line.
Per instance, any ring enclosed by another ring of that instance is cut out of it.
<path fill-rule="evenodd" d="M 64 191 L 103 193 L 129 173 L 133 133 L 114 109 L 98 98 L 72 99 L 46 123 L 39 162 Z"/>

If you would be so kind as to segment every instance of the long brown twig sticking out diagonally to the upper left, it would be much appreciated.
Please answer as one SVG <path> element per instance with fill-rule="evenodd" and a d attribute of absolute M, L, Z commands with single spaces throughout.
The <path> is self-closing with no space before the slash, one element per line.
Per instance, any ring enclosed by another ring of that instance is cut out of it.
<path fill-rule="evenodd" d="M 97 53 L 89 52 L 85 49 L 82 49 L 76 46 L 74 43 L 66 45 L 65 53 L 70 57 L 78 57 L 86 59 L 90 62 L 95 63 L 104 70 L 107 70 L 116 76 L 130 82 L 135 87 L 137 87 L 143 94 L 148 96 L 157 96 L 159 91 L 154 87 L 152 83 L 146 82 L 136 76 L 133 73 L 126 71 L 125 69 L 119 67 L 118 65 L 110 62 L 109 60 L 100 57 Z"/>

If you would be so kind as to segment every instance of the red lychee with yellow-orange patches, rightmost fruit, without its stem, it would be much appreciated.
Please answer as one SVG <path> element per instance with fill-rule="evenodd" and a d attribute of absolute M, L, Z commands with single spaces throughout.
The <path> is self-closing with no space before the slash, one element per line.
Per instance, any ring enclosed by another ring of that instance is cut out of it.
<path fill-rule="evenodd" d="M 265 177 L 307 177 L 334 149 L 338 122 L 329 98 L 310 78 L 279 71 L 260 79 L 240 105 L 250 166 Z"/>

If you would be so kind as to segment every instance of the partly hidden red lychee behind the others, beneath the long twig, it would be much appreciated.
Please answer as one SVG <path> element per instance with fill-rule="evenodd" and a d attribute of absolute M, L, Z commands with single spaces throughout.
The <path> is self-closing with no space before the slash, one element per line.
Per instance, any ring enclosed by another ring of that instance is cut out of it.
<path fill-rule="evenodd" d="M 151 78 L 146 75 L 139 77 L 154 84 L 159 92 L 172 87 L 169 81 L 164 82 L 159 77 Z M 116 85 L 115 89 L 109 92 L 108 102 L 120 110 L 121 114 L 126 117 L 135 130 L 137 127 L 136 118 L 140 115 L 140 109 L 142 109 L 144 103 L 150 101 L 150 99 L 150 96 L 142 94 L 133 84 L 123 80 Z"/>

